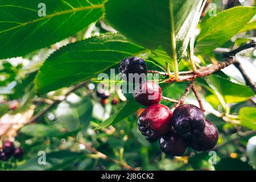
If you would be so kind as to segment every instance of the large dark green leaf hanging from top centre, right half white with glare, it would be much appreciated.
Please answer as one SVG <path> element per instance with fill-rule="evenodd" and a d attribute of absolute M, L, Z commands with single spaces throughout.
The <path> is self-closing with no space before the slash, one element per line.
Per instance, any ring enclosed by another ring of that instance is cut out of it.
<path fill-rule="evenodd" d="M 171 51 L 171 20 L 174 22 L 176 52 L 180 60 L 185 53 L 192 31 L 200 18 L 204 0 L 109 0 L 106 20 L 131 41 L 155 50 Z M 170 3 L 173 5 L 171 17 Z M 171 60 L 166 60 L 171 63 Z"/>

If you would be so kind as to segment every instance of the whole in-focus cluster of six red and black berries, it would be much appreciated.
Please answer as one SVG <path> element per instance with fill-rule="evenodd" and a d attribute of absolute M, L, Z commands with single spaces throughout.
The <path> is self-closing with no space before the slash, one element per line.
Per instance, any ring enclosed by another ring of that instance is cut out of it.
<path fill-rule="evenodd" d="M 138 57 L 122 60 L 119 72 L 147 73 L 146 63 Z M 149 142 L 160 139 L 160 148 L 172 156 L 181 156 L 187 147 L 197 151 L 212 149 L 218 140 L 218 130 L 213 123 L 205 120 L 203 111 L 195 105 L 181 105 L 174 110 L 159 104 L 162 89 L 151 81 L 140 82 L 134 89 L 134 99 L 148 106 L 138 119 L 138 128 Z"/>

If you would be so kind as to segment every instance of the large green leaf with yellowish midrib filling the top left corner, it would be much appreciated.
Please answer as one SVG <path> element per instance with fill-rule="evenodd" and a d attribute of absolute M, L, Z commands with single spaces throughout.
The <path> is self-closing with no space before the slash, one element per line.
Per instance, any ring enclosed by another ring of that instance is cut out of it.
<path fill-rule="evenodd" d="M 46 16 L 40 17 L 42 2 Z M 22 56 L 76 34 L 101 18 L 103 6 L 104 0 L 2 0 L 0 58 Z"/>

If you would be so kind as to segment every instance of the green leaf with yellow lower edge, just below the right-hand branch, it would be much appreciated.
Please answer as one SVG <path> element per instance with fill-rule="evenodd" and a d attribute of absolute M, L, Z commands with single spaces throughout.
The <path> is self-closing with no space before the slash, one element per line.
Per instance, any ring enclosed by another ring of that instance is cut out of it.
<path fill-rule="evenodd" d="M 217 75 L 208 76 L 211 84 L 213 84 L 226 103 L 235 103 L 245 101 L 254 96 L 253 91 L 245 86 L 232 82 L 226 78 Z"/>

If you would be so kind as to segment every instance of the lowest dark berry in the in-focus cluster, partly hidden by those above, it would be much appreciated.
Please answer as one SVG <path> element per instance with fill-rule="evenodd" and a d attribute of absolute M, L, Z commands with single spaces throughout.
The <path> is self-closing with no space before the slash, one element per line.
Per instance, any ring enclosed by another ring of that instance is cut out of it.
<path fill-rule="evenodd" d="M 160 138 L 160 148 L 166 155 L 181 156 L 186 151 L 187 143 L 174 129 L 171 129 Z"/>

